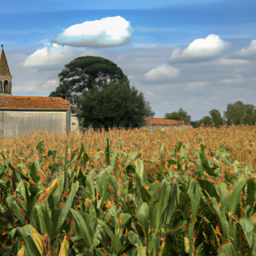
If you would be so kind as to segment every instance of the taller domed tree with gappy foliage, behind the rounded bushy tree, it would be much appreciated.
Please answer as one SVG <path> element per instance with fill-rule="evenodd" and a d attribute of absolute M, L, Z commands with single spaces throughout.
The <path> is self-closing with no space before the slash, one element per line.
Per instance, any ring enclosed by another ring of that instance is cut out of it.
<path fill-rule="evenodd" d="M 59 85 L 49 96 L 62 97 L 70 103 L 79 104 L 83 93 L 92 89 L 92 84 L 127 80 L 120 67 L 103 57 L 82 56 L 65 64 L 58 74 Z"/>

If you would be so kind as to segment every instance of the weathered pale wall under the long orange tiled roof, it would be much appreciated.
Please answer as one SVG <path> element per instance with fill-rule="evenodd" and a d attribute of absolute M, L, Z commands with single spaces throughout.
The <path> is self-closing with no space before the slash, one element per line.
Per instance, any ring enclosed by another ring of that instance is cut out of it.
<path fill-rule="evenodd" d="M 30 131 L 45 130 L 50 133 L 68 133 L 68 111 L 9 111 L 0 110 L 0 136 L 24 136 Z M 67 128 L 67 130 L 66 130 Z"/>

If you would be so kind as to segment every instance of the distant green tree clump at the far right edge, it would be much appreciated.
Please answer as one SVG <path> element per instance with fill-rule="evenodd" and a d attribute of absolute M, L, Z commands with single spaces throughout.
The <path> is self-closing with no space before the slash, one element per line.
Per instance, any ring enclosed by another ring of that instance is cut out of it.
<path fill-rule="evenodd" d="M 251 125 L 256 122 L 255 106 L 244 104 L 242 101 L 227 104 L 223 115 L 228 125 L 240 123 Z"/>

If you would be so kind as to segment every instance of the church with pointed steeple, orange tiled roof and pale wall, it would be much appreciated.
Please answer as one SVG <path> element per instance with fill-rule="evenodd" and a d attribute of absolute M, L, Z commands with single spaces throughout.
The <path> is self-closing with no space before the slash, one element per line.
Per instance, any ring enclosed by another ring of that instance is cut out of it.
<path fill-rule="evenodd" d="M 61 97 L 12 96 L 11 78 L 12 75 L 2 48 L 0 55 L 0 136 L 23 136 L 30 131 L 38 130 L 64 134 L 70 132 L 72 105 L 67 100 Z"/>

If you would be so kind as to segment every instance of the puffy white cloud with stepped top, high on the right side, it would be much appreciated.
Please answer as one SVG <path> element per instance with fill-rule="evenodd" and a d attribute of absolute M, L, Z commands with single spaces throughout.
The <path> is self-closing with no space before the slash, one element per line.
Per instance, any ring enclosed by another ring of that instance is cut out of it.
<path fill-rule="evenodd" d="M 206 60 L 220 54 L 227 43 L 215 34 L 209 34 L 206 38 L 193 40 L 184 50 L 176 48 L 169 57 L 170 62 L 192 62 Z"/>

